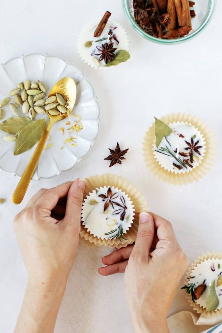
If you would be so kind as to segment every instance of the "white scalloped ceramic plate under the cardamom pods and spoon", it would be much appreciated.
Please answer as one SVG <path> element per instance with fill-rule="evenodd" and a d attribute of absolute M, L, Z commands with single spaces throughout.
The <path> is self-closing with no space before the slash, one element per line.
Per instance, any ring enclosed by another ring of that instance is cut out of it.
<path fill-rule="evenodd" d="M 70 127 L 66 125 L 68 119 L 55 123 L 50 133 L 51 141 L 47 141 L 47 144 L 52 143 L 52 146 L 43 151 L 33 179 L 54 177 L 71 169 L 82 160 L 98 135 L 99 107 L 95 101 L 93 88 L 82 71 L 61 58 L 32 54 L 9 60 L 0 67 L 0 100 L 9 96 L 9 91 L 16 88 L 18 83 L 25 79 L 34 82 L 42 81 L 48 87 L 47 97 L 51 87 L 65 76 L 72 77 L 76 83 L 77 96 L 73 113 L 81 116 L 83 129 L 72 133 L 72 136 L 77 138 L 75 140 L 77 146 L 70 147 L 69 144 L 64 143 L 68 138 L 67 131 L 65 131 L 65 135 L 58 131 L 60 127 L 64 127 L 65 130 Z M 12 100 L 14 100 L 13 97 Z M 19 116 L 26 116 L 22 113 L 21 108 L 19 108 Z M 1 122 L 9 117 L 13 117 L 13 115 L 7 105 L 4 107 L 4 117 Z M 44 115 L 37 115 L 35 119 L 43 117 Z M 47 115 L 45 118 L 48 121 Z M 77 118 L 71 116 L 72 125 L 75 120 Z M 21 155 L 14 156 L 14 142 L 5 142 L 4 134 L 0 131 L 0 169 L 21 176 L 36 146 Z"/>

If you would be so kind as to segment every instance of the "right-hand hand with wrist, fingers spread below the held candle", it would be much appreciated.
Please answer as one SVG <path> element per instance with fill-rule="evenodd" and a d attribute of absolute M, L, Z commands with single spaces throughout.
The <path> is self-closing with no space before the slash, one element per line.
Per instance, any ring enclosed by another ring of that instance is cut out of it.
<path fill-rule="evenodd" d="M 153 213 L 140 214 L 135 245 L 112 252 L 102 262 L 107 266 L 99 268 L 101 275 L 125 271 L 135 332 L 169 332 L 167 314 L 188 265 L 171 223 Z"/>

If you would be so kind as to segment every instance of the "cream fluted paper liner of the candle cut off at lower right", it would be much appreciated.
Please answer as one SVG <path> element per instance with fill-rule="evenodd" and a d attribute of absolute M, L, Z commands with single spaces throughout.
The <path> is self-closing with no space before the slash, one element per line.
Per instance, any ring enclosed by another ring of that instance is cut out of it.
<path fill-rule="evenodd" d="M 195 260 L 195 263 L 192 264 L 192 266 L 189 268 L 189 271 L 187 272 L 187 276 L 185 278 L 184 284 L 187 285 L 189 283 L 188 279 L 191 277 L 192 271 L 194 270 L 194 267 L 196 267 L 201 262 L 208 260 L 208 259 L 222 259 L 222 253 L 220 252 L 208 252 L 207 254 L 203 254 L 202 257 L 198 257 L 198 259 Z M 222 309 L 217 309 L 215 311 L 207 311 L 206 308 L 203 306 L 200 306 L 196 302 L 192 301 L 191 295 L 186 294 L 186 298 L 188 299 L 188 302 L 190 303 L 190 306 L 193 307 L 197 313 L 200 313 L 200 316 L 208 319 L 213 319 L 214 321 L 218 316 L 222 315 Z"/>

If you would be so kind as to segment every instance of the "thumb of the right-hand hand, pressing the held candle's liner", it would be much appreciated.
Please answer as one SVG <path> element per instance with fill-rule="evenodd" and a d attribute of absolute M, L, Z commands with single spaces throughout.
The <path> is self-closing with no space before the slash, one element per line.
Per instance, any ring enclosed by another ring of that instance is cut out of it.
<path fill-rule="evenodd" d="M 139 226 L 133 251 L 148 257 L 154 237 L 153 216 L 147 212 L 140 213 Z"/>

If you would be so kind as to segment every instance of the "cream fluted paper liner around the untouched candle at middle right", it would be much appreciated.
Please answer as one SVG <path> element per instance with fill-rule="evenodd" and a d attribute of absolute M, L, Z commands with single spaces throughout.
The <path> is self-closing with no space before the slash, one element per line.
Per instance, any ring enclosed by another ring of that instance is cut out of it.
<path fill-rule="evenodd" d="M 216 155 L 215 138 L 209 127 L 201 119 L 186 114 L 186 113 L 172 113 L 160 118 L 166 124 L 173 122 L 184 122 L 193 125 L 203 135 L 206 150 L 203 159 L 198 166 L 185 173 L 174 173 L 167 171 L 164 167 L 160 166 L 153 154 L 153 142 L 155 140 L 155 124 L 153 124 L 146 132 L 143 142 L 143 156 L 148 169 L 159 179 L 173 185 L 186 185 L 197 181 L 202 178 L 212 166 Z"/>

